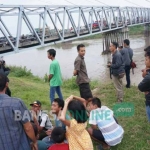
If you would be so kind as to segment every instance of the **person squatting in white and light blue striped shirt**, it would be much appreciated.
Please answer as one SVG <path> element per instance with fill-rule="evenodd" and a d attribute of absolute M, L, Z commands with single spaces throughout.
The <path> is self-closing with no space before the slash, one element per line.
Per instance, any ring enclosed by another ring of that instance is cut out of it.
<path fill-rule="evenodd" d="M 101 106 L 99 98 L 91 98 L 88 103 L 90 110 L 88 132 L 93 139 L 102 142 L 104 149 L 121 143 L 124 130 L 116 122 L 113 111 L 106 106 Z M 98 127 L 98 129 L 97 129 Z"/>

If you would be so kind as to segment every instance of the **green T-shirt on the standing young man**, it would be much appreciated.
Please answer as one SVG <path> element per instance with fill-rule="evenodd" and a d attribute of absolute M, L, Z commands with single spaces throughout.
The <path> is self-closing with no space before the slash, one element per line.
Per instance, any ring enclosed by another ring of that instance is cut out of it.
<path fill-rule="evenodd" d="M 51 86 L 60 86 L 62 85 L 62 76 L 59 62 L 55 59 L 50 64 L 50 73 L 53 74 L 53 78 L 50 80 Z"/>

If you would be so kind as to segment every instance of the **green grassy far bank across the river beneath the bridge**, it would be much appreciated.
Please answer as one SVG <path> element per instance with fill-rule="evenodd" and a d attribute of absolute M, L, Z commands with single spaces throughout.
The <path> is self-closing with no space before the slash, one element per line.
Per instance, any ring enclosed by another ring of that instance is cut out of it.
<path fill-rule="evenodd" d="M 143 34 L 144 34 L 143 25 L 129 27 L 129 36 L 143 35 Z M 102 34 L 96 34 L 96 35 L 84 37 L 84 38 L 81 38 L 81 40 L 90 40 L 90 39 L 99 39 L 99 38 L 102 38 Z"/>

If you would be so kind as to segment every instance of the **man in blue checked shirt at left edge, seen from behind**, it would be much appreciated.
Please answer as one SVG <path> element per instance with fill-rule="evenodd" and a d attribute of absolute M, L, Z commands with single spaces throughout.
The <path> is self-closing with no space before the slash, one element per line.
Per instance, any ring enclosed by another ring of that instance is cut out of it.
<path fill-rule="evenodd" d="M 5 94 L 6 75 L 0 73 L 0 149 L 37 150 L 37 140 L 30 123 L 30 113 L 24 103 Z"/>

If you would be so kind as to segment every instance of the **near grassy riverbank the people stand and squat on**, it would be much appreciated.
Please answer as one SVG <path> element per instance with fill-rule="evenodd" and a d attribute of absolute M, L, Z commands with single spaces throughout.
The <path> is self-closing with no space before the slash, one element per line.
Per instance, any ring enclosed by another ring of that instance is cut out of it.
<path fill-rule="evenodd" d="M 29 104 L 34 100 L 40 100 L 44 109 L 50 109 L 49 83 L 32 75 L 25 68 L 11 67 L 10 89 L 12 96 L 21 98 L 29 108 Z M 91 82 L 92 89 L 99 87 L 95 95 L 98 96 L 103 105 L 113 109 L 116 104 L 115 90 L 113 85 Z M 79 95 L 75 79 L 65 80 L 62 86 L 64 98 L 74 94 Z M 134 104 L 135 113 L 132 117 L 119 117 L 119 123 L 125 130 L 121 144 L 112 147 L 112 150 L 149 150 L 147 140 L 150 140 L 150 125 L 145 115 L 144 95 L 138 91 L 137 87 L 125 89 L 124 101 Z M 94 144 L 95 145 L 95 144 Z"/>

